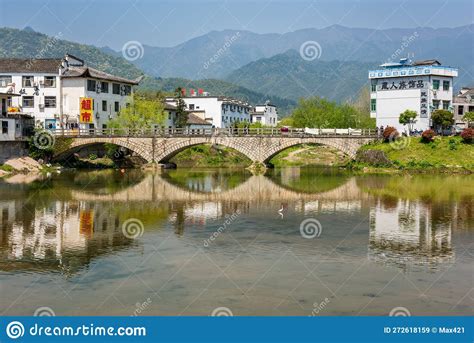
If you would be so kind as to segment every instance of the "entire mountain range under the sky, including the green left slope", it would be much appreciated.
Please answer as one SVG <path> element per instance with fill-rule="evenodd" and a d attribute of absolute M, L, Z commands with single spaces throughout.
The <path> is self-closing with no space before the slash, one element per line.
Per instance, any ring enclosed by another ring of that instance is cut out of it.
<path fill-rule="evenodd" d="M 0 57 L 48 58 L 66 52 L 119 76 L 145 74 L 140 88 L 204 88 L 251 103 L 270 100 L 288 113 L 300 97 L 344 101 L 367 84 L 367 71 L 409 55 L 459 68 L 455 87 L 474 85 L 474 25 L 457 28 L 364 29 L 333 25 L 284 34 L 211 31 L 175 47 L 143 45 L 141 58 L 24 30 L 0 28 Z M 304 49 L 306 46 L 308 50 Z"/>

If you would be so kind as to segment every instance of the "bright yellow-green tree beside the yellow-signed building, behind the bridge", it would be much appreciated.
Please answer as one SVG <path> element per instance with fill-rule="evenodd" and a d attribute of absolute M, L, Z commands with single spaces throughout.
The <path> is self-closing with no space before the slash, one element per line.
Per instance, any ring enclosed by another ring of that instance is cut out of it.
<path fill-rule="evenodd" d="M 122 108 L 116 118 L 109 120 L 108 127 L 128 129 L 133 133 L 154 129 L 164 124 L 165 114 L 161 101 L 147 100 L 135 95 L 129 102 L 130 106 Z"/>

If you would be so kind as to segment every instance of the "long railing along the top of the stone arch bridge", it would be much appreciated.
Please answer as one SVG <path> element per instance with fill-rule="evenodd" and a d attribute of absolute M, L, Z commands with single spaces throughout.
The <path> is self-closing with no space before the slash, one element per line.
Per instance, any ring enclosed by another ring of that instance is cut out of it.
<path fill-rule="evenodd" d="M 299 129 L 299 128 L 209 128 L 209 129 L 56 129 L 55 136 L 64 137 L 377 137 L 376 129 Z"/>

